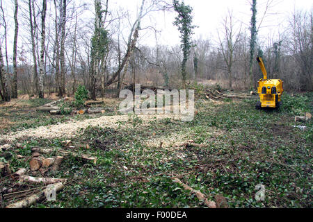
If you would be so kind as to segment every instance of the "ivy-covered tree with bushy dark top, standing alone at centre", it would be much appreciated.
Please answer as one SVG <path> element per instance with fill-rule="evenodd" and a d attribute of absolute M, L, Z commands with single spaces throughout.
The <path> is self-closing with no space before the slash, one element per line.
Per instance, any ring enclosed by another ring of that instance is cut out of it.
<path fill-rule="evenodd" d="M 191 12 L 193 8 L 190 6 L 185 6 L 184 1 L 179 3 L 178 0 L 172 1 L 175 12 L 178 13 L 178 16 L 175 18 L 175 22 L 173 24 L 177 26 L 180 32 L 181 38 L 181 48 L 183 51 L 183 60 L 182 60 L 182 82 L 184 87 L 186 88 L 186 64 L 188 61 L 188 56 L 192 47 L 191 35 L 193 35 L 193 28 L 196 26 L 192 25 L 193 17 Z"/>

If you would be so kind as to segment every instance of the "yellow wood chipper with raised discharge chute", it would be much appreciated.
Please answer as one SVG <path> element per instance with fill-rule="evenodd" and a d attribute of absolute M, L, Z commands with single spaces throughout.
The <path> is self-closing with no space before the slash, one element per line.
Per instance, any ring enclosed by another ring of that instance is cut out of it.
<path fill-rule="evenodd" d="M 282 88 L 283 81 L 280 79 L 267 79 L 267 72 L 261 57 L 257 57 L 259 67 L 262 70 L 263 78 L 259 80 L 257 93 L 259 94 L 259 101 L 255 105 L 257 110 L 262 108 L 279 109 L 282 105 L 281 96 L 284 89 Z"/>

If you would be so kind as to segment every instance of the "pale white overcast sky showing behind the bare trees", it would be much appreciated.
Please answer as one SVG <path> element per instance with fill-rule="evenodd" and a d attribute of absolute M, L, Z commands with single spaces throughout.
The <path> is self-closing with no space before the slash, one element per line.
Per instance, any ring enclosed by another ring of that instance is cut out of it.
<path fill-rule="evenodd" d="M 76 0 L 73 0 L 76 1 Z M 136 15 L 138 8 L 141 6 L 142 0 L 109 0 L 109 10 L 115 10 L 117 8 L 125 8 L 131 13 Z M 186 4 L 193 8 L 193 24 L 199 26 L 195 28 L 194 39 L 202 37 L 202 39 L 211 39 L 214 43 L 217 40 L 218 28 L 222 27 L 223 17 L 227 15 L 227 10 L 232 10 L 234 15 L 234 21 L 236 24 L 243 22 L 243 28 L 249 33 L 248 26 L 250 24 L 251 6 L 250 0 L 184 0 Z M 268 0 L 257 0 L 257 22 L 260 22 L 264 15 L 266 8 L 266 2 Z M 310 12 L 313 8 L 313 1 L 310 0 L 270 0 L 273 1 L 271 8 L 267 12 L 267 17 L 262 22 L 262 27 L 259 30 L 259 39 L 266 42 L 268 35 L 278 35 L 279 32 L 284 30 L 287 24 L 286 18 L 295 9 L 307 10 Z M 13 1 L 3 0 L 3 6 L 8 11 L 8 53 L 13 51 L 13 35 L 14 35 L 14 21 L 13 21 Z M 93 3 L 93 0 L 85 1 Z M 170 2 L 170 1 L 168 1 Z M 94 10 L 93 7 L 90 10 Z M 86 17 L 93 18 L 93 12 L 86 12 Z M 175 19 L 175 12 L 157 12 L 150 17 L 145 17 L 142 21 L 142 28 L 145 26 L 154 26 L 160 31 L 159 44 L 176 45 L 179 43 L 179 32 L 177 28 L 172 25 Z M 20 31 L 20 35 L 25 35 Z M 1 29 L 1 35 L 3 35 L 3 29 Z M 127 34 L 126 34 L 127 35 Z M 155 38 L 152 31 L 141 31 L 140 44 L 148 44 L 154 46 Z M 19 37 L 19 47 L 22 45 L 22 39 Z"/>

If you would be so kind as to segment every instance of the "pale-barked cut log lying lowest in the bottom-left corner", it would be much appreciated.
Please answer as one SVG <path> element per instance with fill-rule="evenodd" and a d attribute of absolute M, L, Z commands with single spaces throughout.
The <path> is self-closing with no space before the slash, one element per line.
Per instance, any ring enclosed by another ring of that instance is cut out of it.
<path fill-rule="evenodd" d="M 64 185 L 62 182 L 58 182 L 53 186 L 53 189 L 55 189 L 56 192 L 60 191 L 63 189 Z M 51 189 L 51 188 L 50 188 Z M 38 194 L 33 194 L 23 200 L 18 201 L 17 203 L 11 203 L 10 205 L 7 205 L 6 208 L 26 208 L 30 207 L 31 205 L 37 203 L 38 201 L 42 200 L 45 198 L 45 194 L 47 194 L 49 189 L 44 189 L 40 191 Z"/>

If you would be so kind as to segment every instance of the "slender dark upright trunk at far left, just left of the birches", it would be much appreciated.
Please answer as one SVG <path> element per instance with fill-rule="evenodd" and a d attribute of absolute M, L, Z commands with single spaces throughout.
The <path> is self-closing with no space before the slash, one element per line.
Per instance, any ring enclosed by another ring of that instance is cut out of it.
<path fill-rule="evenodd" d="M 17 35 L 19 33 L 19 22 L 17 21 L 18 4 L 17 0 L 14 1 L 14 21 L 15 21 L 15 33 L 13 43 L 13 81 L 12 81 L 12 98 L 17 99 Z"/>

